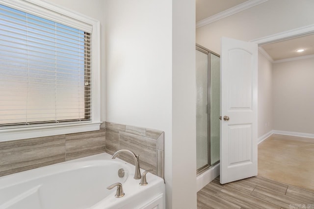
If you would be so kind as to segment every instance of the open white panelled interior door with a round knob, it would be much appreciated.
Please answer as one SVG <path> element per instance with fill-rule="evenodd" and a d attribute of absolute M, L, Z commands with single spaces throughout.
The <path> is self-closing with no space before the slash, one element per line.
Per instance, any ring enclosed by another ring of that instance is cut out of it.
<path fill-rule="evenodd" d="M 220 183 L 257 175 L 257 44 L 221 40 Z"/>

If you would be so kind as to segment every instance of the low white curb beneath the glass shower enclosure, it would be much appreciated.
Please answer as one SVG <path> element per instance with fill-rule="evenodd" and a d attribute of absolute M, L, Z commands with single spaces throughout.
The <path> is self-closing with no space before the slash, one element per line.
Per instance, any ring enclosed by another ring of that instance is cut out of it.
<path fill-rule="evenodd" d="M 212 180 L 214 180 L 220 174 L 220 163 L 212 166 L 204 173 L 200 174 L 196 177 L 196 187 L 197 191 L 201 190 L 204 186 L 209 184 Z"/>

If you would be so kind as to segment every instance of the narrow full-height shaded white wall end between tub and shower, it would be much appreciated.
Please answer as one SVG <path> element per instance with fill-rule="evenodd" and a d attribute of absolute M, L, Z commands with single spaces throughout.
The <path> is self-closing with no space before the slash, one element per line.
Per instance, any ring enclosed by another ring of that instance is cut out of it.
<path fill-rule="evenodd" d="M 195 68 L 195 0 L 172 0 L 173 209 L 196 209 Z"/>

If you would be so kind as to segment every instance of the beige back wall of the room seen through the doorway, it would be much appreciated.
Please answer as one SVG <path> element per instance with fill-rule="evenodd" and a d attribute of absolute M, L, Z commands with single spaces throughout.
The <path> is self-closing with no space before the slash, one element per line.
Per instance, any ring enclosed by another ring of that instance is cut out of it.
<path fill-rule="evenodd" d="M 314 133 L 314 58 L 273 65 L 274 130 Z"/>

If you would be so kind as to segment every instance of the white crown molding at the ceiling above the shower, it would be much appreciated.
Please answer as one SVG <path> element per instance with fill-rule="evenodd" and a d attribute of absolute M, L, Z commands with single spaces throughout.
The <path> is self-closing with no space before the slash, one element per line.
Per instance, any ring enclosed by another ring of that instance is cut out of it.
<path fill-rule="evenodd" d="M 260 3 L 263 3 L 267 0 L 248 0 L 248 1 L 245 1 L 239 5 L 236 5 L 230 9 L 227 9 L 225 11 L 222 11 L 222 12 L 219 12 L 218 14 L 215 14 L 213 16 L 210 16 L 204 20 L 200 20 L 198 22 L 196 22 L 196 28 L 198 27 L 201 27 L 201 26 L 205 26 L 205 25 L 208 25 L 210 23 L 213 23 L 215 21 L 218 21 L 220 19 L 223 19 L 223 18 L 226 18 L 228 16 L 231 16 L 231 15 L 234 15 L 235 13 L 238 13 L 240 11 L 243 11 L 243 10 L 246 10 L 246 9 L 249 9 L 253 6 L 256 6 Z"/>

